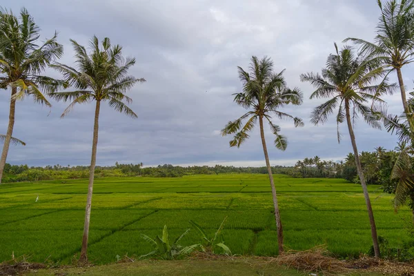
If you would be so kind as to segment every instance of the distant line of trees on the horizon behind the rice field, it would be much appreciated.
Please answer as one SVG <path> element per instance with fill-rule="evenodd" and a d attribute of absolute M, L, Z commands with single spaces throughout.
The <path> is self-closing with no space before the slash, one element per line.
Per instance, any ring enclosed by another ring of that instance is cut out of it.
<path fill-rule="evenodd" d="M 386 192 L 395 190 L 397 181 L 391 179 L 391 171 L 399 155 L 399 150 L 386 150 L 382 147 L 375 148 L 373 152 L 361 152 L 362 170 L 366 177 L 366 184 L 381 185 Z M 3 182 L 14 181 L 39 181 L 56 179 L 80 179 L 87 178 L 90 166 L 54 166 L 35 167 L 28 165 L 5 166 Z M 290 175 L 297 178 L 342 178 L 359 184 L 355 156 L 349 153 L 344 161 L 326 161 L 320 157 L 306 157 L 296 162 L 295 166 L 272 166 L 272 172 L 276 174 Z M 257 173 L 267 174 L 266 166 L 262 167 L 237 167 L 237 166 L 173 166 L 164 164 L 159 166 L 144 167 L 139 164 L 119 164 L 115 166 L 96 166 L 96 177 L 183 177 L 184 175 L 218 175 L 228 173 Z"/>

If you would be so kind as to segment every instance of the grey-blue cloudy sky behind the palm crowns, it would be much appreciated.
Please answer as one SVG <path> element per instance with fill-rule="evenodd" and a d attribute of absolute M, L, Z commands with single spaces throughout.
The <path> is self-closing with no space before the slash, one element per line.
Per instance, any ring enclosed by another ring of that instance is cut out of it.
<path fill-rule="evenodd" d="M 69 39 L 87 45 L 92 35 L 110 37 L 136 57 L 130 73 L 144 77 L 128 92 L 138 119 L 105 107 L 101 112 L 97 164 L 115 161 L 157 164 L 232 164 L 264 166 L 258 129 L 241 148 L 229 148 L 230 137 L 219 130 L 244 109 L 231 96 L 241 89 L 237 66 L 248 67 L 250 57 L 271 57 L 275 71 L 286 69 L 288 86 L 304 93 L 302 106 L 284 111 L 302 117 L 304 128 L 279 122 L 288 136 L 288 149 L 270 146 L 272 164 L 290 165 L 318 155 L 338 160 L 351 152 L 346 126 L 337 144 L 334 120 L 313 126 L 309 115 L 320 101 L 309 100 L 313 88 L 301 83 L 304 72 L 320 72 L 333 42 L 346 37 L 372 40 L 379 15 L 375 0 L 3 0 L 15 13 L 26 7 L 41 27 L 41 38 L 59 32 L 64 46 L 61 63 L 72 64 Z M 57 72 L 47 74 L 59 77 Z M 403 70 L 413 88 L 412 68 Z M 395 76 L 393 76 L 395 81 Z M 10 91 L 0 91 L 0 133 L 8 124 Z M 401 109 L 400 96 L 387 97 L 390 112 Z M 26 141 L 12 146 L 12 164 L 45 166 L 86 165 L 90 161 L 94 105 L 77 106 L 60 119 L 65 103 L 52 108 L 26 98 L 17 103 L 14 137 Z M 377 146 L 392 149 L 396 139 L 385 130 L 357 122 L 359 150 Z M 273 144 L 266 130 L 268 144 Z"/>

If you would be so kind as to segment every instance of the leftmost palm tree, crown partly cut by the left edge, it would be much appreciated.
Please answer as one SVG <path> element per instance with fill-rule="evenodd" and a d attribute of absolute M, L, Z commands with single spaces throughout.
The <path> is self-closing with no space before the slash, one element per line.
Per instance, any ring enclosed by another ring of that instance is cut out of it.
<path fill-rule="evenodd" d="M 43 92 L 52 92 L 63 84 L 40 75 L 50 62 L 61 57 L 63 48 L 56 41 L 56 33 L 41 46 L 37 45 L 39 32 L 26 9 L 21 10 L 19 17 L 0 10 L 0 88 L 11 88 L 8 129 L 0 158 L 0 183 L 12 141 L 16 101 L 30 95 L 37 103 L 50 106 Z"/>

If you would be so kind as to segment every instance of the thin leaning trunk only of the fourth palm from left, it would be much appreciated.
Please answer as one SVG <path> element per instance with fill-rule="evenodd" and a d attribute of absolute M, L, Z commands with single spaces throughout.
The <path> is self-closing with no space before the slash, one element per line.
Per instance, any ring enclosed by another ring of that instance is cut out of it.
<path fill-rule="evenodd" d="M 351 137 L 352 148 L 353 148 L 353 152 L 355 155 L 355 164 L 357 166 L 357 173 L 359 176 L 359 181 L 361 181 L 362 190 L 364 191 L 366 209 L 368 210 L 369 223 L 371 224 L 371 236 L 373 238 L 374 253 L 375 253 L 375 257 L 379 258 L 381 255 L 380 255 L 380 246 L 378 245 L 377 226 L 375 226 L 373 208 L 371 206 L 371 200 L 369 199 L 368 188 L 366 188 L 364 172 L 362 172 L 361 161 L 359 160 L 357 143 L 355 141 L 355 134 L 353 132 L 351 114 L 349 111 L 349 100 L 348 99 L 345 99 L 345 110 L 346 110 L 346 122 L 348 123 L 349 136 Z"/>

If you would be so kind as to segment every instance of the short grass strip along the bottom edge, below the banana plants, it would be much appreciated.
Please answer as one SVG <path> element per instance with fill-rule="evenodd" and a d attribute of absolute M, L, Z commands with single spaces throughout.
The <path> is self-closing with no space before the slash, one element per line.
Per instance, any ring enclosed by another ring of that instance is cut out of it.
<path fill-rule="evenodd" d="M 59 268 L 39 270 L 28 275 L 94 275 L 94 276 L 305 276 L 308 274 L 276 264 L 257 262 L 254 259 L 228 261 L 182 260 L 182 261 L 141 261 L 126 264 L 110 264 L 90 268 Z M 375 273 L 353 273 L 352 275 L 375 275 Z"/>

